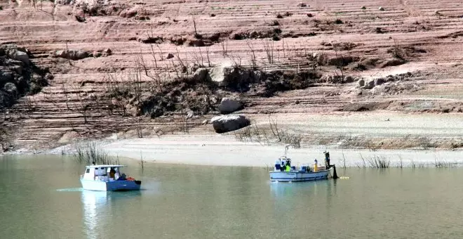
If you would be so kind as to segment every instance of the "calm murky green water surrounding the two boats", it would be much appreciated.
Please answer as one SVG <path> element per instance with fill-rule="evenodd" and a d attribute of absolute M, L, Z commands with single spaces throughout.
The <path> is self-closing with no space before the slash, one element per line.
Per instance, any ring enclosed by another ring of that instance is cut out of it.
<path fill-rule="evenodd" d="M 140 192 L 83 191 L 70 158 L 0 157 L 0 238 L 463 238 L 463 169 L 270 183 L 264 168 L 124 163 Z"/>

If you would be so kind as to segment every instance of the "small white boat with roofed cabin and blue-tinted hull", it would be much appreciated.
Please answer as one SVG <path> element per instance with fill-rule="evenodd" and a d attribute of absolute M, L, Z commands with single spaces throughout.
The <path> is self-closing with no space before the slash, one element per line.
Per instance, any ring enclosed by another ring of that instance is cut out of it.
<path fill-rule="evenodd" d="M 142 181 L 121 174 L 124 165 L 89 165 L 81 175 L 82 188 L 95 191 L 140 190 Z"/>

